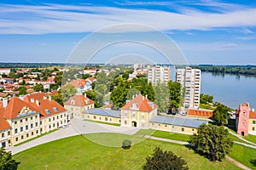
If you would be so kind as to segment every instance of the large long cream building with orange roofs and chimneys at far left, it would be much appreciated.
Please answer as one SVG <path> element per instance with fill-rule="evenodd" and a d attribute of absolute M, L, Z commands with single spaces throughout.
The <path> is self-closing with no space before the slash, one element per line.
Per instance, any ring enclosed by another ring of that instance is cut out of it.
<path fill-rule="evenodd" d="M 39 99 L 37 96 L 3 99 L 0 108 L 0 139 L 3 147 L 19 144 L 67 124 L 64 107 L 50 96 L 49 99 Z"/>

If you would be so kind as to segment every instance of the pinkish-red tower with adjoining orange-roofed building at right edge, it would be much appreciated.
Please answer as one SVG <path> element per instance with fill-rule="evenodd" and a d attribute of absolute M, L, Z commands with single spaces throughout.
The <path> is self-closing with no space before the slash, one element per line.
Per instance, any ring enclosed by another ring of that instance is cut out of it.
<path fill-rule="evenodd" d="M 249 103 L 241 104 L 236 109 L 236 131 L 242 136 L 256 135 L 256 113 L 250 109 Z"/>

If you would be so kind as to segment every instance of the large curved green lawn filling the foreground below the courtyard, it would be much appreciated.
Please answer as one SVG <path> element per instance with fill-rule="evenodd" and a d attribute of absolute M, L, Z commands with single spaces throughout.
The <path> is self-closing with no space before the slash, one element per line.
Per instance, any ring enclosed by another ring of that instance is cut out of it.
<path fill-rule="evenodd" d="M 154 148 L 159 146 L 163 150 L 172 150 L 182 156 L 188 162 L 189 169 L 239 169 L 227 160 L 208 161 L 184 145 L 146 139 L 132 145 L 131 150 L 123 150 L 120 147 L 96 144 L 90 139 L 103 139 L 108 143 L 120 143 L 120 146 L 121 139 L 129 138 L 128 135 L 93 133 L 84 136 L 41 144 L 16 154 L 14 158 L 21 162 L 19 169 L 141 169 L 145 157 L 151 155 Z"/>

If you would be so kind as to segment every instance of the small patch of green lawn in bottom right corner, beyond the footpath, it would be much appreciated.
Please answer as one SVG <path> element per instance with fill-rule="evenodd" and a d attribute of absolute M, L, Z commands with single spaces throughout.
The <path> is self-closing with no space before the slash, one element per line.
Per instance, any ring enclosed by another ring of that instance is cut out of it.
<path fill-rule="evenodd" d="M 236 159 L 236 161 L 240 161 L 247 167 L 251 167 L 252 169 L 256 169 L 251 163 L 251 159 L 256 159 L 256 150 L 242 146 L 240 144 L 233 144 L 232 151 L 229 154 L 232 158 Z"/>

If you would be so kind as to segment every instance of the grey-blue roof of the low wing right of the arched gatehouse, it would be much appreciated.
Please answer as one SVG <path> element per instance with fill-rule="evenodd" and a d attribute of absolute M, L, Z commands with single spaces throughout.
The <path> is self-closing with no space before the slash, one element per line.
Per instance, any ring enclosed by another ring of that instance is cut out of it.
<path fill-rule="evenodd" d="M 154 116 L 149 122 L 176 125 L 180 127 L 199 127 L 203 123 L 207 124 L 207 121 L 171 116 Z"/>

